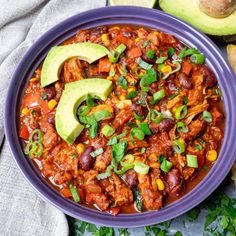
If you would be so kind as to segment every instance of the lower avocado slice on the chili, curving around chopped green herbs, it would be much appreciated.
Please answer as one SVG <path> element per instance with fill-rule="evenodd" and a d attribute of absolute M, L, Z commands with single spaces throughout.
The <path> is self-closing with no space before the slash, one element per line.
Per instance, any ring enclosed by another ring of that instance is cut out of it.
<path fill-rule="evenodd" d="M 56 130 L 61 138 L 67 143 L 73 144 L 84 129 L 76 116 L 79 105 L 86 99 L 88 94 L 106 100 L 112 88 L 110 80 L 97 78 L 66 84 L 55 114 Z"/>

